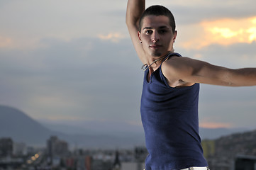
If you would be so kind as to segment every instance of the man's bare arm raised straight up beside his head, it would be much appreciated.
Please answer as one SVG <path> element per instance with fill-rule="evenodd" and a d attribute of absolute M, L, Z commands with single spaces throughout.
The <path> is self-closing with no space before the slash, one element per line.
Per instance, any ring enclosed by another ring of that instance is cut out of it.
<path fill-rule="evenodd" d="M 145 11 L 145 0 L 128 0 L 126 10 L 126 26 L 130 33 L 130 38 L 133 41 L 133 45 L 138 57 L 140 58 L 141 62 L 145 64 L 147 63 L 145 52 L 138 38 L 138 26 L 140 16 L 142 15 L 143 11 Z"/>

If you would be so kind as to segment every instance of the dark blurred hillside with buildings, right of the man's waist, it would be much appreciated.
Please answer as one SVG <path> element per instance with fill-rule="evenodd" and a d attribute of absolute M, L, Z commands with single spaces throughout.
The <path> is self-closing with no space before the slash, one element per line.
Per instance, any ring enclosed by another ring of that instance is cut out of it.
<path fill-rule="evenodd" d="M 219 137 L 216 140 L 206 140 L 204 154 L 211 170 L 255 169 L 256 162 L 256 130 L 238 132 Z"/>

